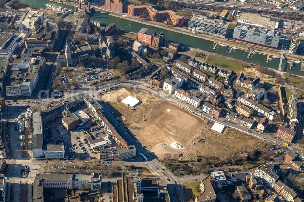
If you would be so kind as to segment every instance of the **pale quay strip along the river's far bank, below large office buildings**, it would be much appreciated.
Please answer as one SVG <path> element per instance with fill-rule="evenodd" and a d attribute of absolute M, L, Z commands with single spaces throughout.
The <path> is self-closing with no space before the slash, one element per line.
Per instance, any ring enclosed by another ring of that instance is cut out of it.
<path fill-rule="evenodd" d="M 212 36 L 212 35 L 192 34 L 191 30 L 188 30 L 188 29 L 185 29 L 185 28 L 168 27 L 168 26 L 165 26 L 163 23 L 160 23 L 160 22 L 154 22 L 154 21 L 148 21 L 148 20 L 139 20 L 138 17 L 130 16 L 130 15 L 127 15 L 127 17 L 123 17 L 120 14 L 105 11 L 104 9 L 99 8 L 97 6 L 95 6 L 94 8 L 98 9 L 103 14 L 107 13 L 107 15 L 112 15 L 112 16 L 117 17 L 117 18 L 126 19 L 126 20 L 130 20 L 130 21 L 133 21 L 133 22 L 138 22 L 138 23 L 141 23 L 141 24 L 144 24 L 144 25 L 150 25 L 150 26 L 161 28 L 161 29 L 166 29 L 168 31 L 177 32 L 177 33 L 180 33 L 180 34 L 189 35 L 189 36 L 200 38 L 200 39 L 205 39 L 205 40 L 208 40 L 208 41 L 212 41 L 214 43 L 220 43 L 220 44 L 224 44 L 224 45 L 227 45 L 227 46 L 230 46 L 230 47 L 236 47 L 240 50 L 247 50 L 248 47 L 251 46 L 251 47 L 254 48 L 254 51 L 257 52 L 258 54 L 262 54 L 262 55 L 265 55 L 265 56 L 268 56 L 268 55 L 269 56 L 277 56 L 277 57 L 281 56 L 280 55 L 280 50 L 268 49 L 268 48 L 264 48 L 264 47 L 261 47 L 261 46 L 252 45 L 252 44 L 249 44 L 249 43 L 239 42 L 239 41 L 236 41 L 234 39 L 227 40 L 227 39 L 220 38 L 220 37 L 217 37 L 217 36 Z M 124 15 L 126 15 L 126 14 L 124 14 Z M 284 56 L 285 56 L 284 58 L 290 59 L 290 60 L 303 59 L 303 58 L 300 58 L 299 56 L 290 55 L 290 54 L 288 54 L 288 52 L 285 52 Z"/>

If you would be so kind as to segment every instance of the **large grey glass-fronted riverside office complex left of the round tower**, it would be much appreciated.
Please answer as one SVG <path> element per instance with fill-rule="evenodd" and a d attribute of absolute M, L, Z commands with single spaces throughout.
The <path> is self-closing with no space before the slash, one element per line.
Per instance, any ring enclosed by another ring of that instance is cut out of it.
<path fill-rule="evenodd" d="M 281 31 L 280 19 L 243 12 L 235 25 L 233 39 L 277 49 Z"/>

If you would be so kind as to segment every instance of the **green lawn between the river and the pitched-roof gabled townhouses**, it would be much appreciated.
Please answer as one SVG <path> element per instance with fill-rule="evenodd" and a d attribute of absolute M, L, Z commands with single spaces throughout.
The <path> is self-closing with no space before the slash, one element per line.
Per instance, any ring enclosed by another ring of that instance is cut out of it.
<path fill-rule="evenodd" d="M 232 70 L 234 70 L 235 72 L 243 71 L 243 67 L 240 62 L 231 61 L 217 56 L 209 55 L 206 62 L 209 63 L 210 65 L 216 65 L 218 67 L 230 71 Z"/>

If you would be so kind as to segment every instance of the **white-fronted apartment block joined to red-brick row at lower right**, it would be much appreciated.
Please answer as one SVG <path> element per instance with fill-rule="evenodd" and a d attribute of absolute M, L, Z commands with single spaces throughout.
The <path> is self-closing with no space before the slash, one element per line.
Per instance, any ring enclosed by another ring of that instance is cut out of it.
<path fill-rule="evenodd" d="M 269 187 L 273 187 L 274 183 L 279 178 L 279 171 L 280 167 L 278 165 L 266 163 L 255 169 L 254 176 L 263 180 L 263 182 L 266 183 L 266 185 L 268 185 Z"/>

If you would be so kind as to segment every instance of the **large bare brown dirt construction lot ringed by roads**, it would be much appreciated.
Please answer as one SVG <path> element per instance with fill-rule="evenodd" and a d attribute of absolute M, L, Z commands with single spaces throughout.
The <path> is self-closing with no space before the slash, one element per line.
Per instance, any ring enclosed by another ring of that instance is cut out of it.
<path fill-rule="evenodd" d="M 136 110 L 122 103 L 127 96 L 142 103 Z M 102 96 L 121 116 L 126 126 L 150 152 L 159 158 L 226 159 L 250 152 L 261 145 L 261 140 L 227 128 L 223 134 L 211 130 L 211 125 L 181 107 L 134 89 L 118 89 Z"/>

